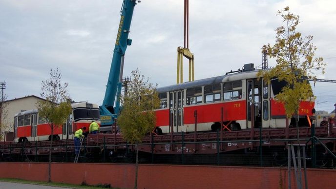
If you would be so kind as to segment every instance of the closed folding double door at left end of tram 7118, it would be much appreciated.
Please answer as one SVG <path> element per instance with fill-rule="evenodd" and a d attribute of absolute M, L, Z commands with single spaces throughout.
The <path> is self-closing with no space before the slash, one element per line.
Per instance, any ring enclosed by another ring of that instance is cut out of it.
<path fill-rule="evenodd" d="M 183 96 L 184 92 L 174 91 L 170 92 L 170 97 L 172 97 L 172 104 L 170 108 L 170 115 L 172 116 L 172 126 L 173 132 L 181 132 L 184 130 L 183 126 Z M 185 131 L 185 130 L 184 130 Z"/>

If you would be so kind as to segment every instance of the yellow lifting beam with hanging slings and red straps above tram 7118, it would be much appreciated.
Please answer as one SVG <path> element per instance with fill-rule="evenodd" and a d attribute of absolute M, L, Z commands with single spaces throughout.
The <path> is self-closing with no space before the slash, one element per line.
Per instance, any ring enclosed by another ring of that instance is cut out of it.
<path fill-rule="evenodd" d="M 189 50 L 189 0 L 184 0 L 184 47 L 177 47 L 176 84 L 183 83 L 183 56 L 189 59 L 189 82 L 194 81 L 194 54 Z"/>

